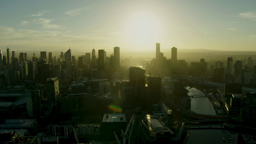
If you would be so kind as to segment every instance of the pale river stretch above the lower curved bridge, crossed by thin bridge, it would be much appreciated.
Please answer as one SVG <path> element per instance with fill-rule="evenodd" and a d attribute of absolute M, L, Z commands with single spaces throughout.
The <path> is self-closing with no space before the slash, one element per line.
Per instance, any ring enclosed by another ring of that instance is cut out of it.
<path fill-rule="evenodd" d="M 204 93 L 201 90 L 198 90 L 194 87 L 186 86 L 185 88 L 190 91 L 188 93 L 189 96 L 200 94 L 204 95 Z M 216 115 L 212 103 L 210 102 L 207 96 L 194 96 L 193 98 L 191 98 L 190 110 L 198 114 Z"/>

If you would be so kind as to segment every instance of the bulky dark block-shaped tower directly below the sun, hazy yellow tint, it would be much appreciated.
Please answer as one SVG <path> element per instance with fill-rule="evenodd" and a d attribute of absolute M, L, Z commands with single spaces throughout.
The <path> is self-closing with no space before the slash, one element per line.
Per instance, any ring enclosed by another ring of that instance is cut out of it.
<path fill-rule="evenodd" d="M 145 86 L 146 69 L 140 67 L 129 68 L 129 78 L 133 87 Z"/>

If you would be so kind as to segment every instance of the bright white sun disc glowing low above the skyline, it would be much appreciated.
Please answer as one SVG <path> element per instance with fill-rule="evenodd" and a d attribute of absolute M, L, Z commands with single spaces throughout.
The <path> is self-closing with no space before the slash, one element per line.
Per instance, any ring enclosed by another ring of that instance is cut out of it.
<path fill-rule="evenodd" d="M 150 13 L 136 13 L 127 23 L 127 36 L 135 43 L 156 41 L 158 22 Z"/>

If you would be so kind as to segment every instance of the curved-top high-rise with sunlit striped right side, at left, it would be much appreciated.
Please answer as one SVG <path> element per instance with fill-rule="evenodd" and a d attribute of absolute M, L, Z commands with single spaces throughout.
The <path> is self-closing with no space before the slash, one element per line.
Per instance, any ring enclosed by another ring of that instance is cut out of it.
<path fill-rule="evenodd" d="M 60 98 L 60 86 L 58 77 L 47 78 L 47 95 L 49 102 L 56 102 Z"/>

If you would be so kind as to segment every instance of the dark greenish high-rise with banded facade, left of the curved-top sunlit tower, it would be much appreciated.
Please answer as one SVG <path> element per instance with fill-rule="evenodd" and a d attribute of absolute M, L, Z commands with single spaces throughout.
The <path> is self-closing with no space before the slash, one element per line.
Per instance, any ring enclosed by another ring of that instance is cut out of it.
<path fill-rule="evenodd" d="M 46 86 L 36 86 L 30 80 L 25 81 L 27 114 L 30 118 L 42 118 L 42 98 L 46 97 Z"/>

